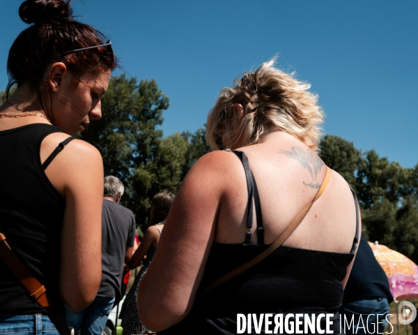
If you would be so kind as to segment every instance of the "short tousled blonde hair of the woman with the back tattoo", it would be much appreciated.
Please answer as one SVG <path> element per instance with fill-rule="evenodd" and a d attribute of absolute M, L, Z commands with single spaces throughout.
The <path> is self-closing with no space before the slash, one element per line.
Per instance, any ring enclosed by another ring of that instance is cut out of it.
<path fill-rule="evenodd" d="M 284 73 L 274 67 L 276 57 L 254 72 L 245 72 L 224 87 L 210 110 L 206 140 L 212 149 L 236 149 L 260 142 L 270 127 L 286 131 L 311 149 L 320 141 L 320 124 L 324 112 L 318 95 L 309 91 L 311 84 L 295 79 L 295 73 Z M 237 126 L 233 106 L 244 108 Z"/>

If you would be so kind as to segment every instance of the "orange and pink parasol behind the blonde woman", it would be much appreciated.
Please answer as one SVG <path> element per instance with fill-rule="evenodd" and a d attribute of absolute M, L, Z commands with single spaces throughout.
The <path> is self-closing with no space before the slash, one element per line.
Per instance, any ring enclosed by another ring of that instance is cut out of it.
<path fill-rule="evenodd" d="M 381 244 L 369 242 L 371 250 L 389 279 L 395 301 L 418 298 L 418 266 L 408 257 Z"/>

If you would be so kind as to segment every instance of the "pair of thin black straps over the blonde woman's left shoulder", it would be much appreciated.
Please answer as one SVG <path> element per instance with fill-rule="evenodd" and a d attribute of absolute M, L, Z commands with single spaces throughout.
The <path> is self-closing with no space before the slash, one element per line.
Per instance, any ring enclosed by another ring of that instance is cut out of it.
<path fill-rule="evenodd" d="M 231 150 L 228 150 L 231 151 Z M 252 228 L 253 221 L 253 198 L 254 198 L 254 207 L 256 207 L 256 219 L 257 219 L 257 242 L 258 244 L 264 244 L 264 227 L 263 227 L 263 216 L 261 214 L 261 204 L 260 197 L 258 196 L 258 189 L 254 175 L 249 168 L 249 162 L 247 155 L 243 151 L 232 151 L 238 158 L 245 170 L 245 177 L 247 177 L 247 187 L 248 187 L 248 218 L 247 218 L 247 228 Z M 244 244 L 251 244 L 251 232 L 247 231 L 245 234 Z"/>

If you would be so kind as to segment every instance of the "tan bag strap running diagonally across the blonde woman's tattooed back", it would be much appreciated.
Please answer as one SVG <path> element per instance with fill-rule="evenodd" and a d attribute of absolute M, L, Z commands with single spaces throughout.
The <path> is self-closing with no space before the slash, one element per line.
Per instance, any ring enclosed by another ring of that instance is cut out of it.
<path fill-rule="evenodd" d="M 310 202 L 307 205 L 307 207 L 304 207 L 304 209 L 302 209 L 302 211 L 300 211 L 300 213 L 297 214 L 297 216 L 293 219 L 291 224 L 288 225 L 288 228 L 286 228 L 284 232 L 282 232 L 280 236 L 277 237 L 277 239 L 267 249 L 265 249 L 265 251 L 257 255 L 255 258 L 253 258 L 249 262 L 246 262 L 243 265 L 236 267 L 235 269 L 229 271 L 227 274 L 224 274 L 224 276 L 218 278 L 217 280 L 213 281 L 208 286 L 206 286 L 206 288 L 204 288 L 203 291 L 201 292 L 201 296 L 206 295 L 208 292 L 210 292 L 217 286 L 221 285 L 222 283 L 226 281 L 229 281 L 229 279 L 235 276 L 238 276 L 238 274 L 241 274 L 247 269 L 254 267 L 254 265 L 258 264 L 258 262 L 261 262 L 262 260 L 267 258 L 268 255 L 270 255 L 273 251 L 279 248 L 279 246 L 281 246 L 281 244 L 283 244 L 284 241 L 286 241 L 286 239 L 288 239 L 288 237 L 291 236 L 291 234 L 295 231 L 297 226 L 302 222 L 302 220 L 307 215 L 309 209 L 311 209 L 314 202 L 316 202 L 316 200 L 318 200 L 318 198 L 323 194 L 323 192 L 325 191 L 325 188 L 327 188 L 327 185 L 330 182 L 330 178 L 331 178 L 331 169 L 327 167 L 327 174 L 325 174 L 323 183 L 320 186 L 318 193 L 316 193 L 314 200 L 312 200 L 312 202 Z"/>

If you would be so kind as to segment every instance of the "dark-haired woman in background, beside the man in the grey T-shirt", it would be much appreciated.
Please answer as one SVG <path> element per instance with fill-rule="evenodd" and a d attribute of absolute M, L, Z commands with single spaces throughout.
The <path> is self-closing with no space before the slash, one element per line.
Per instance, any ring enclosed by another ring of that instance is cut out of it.
<path fill-rule="evenodd" d="M 162 193 L 158 193 L 151 200 L 150 210 L 150 226 L 144 234 L 144 238 L 139 244 L 139 248 L 132 255 L 130 262 L 127 266 L 130 269 L 135 269 L 143 261 L 144 265 L 139 271 L 139 274 L 135 277 L 134 284 L 129 292 L 127 292 L 125 302 L 123 303 L 121 316 L 123 334 L 125 335 L 139 335 L 139 334 L 153 334 L 152 330 L 146 328 L 141 320 L 138 318 L 137 309 L 137 297 L 138 297 L 138 284 L 141 278 L 146 274 L 146 270 L 150 266 L 151 260 L 157 250 L 158 241 L 160 241 L 160 235 L 164 228 L 164 222 L 169 214 L 171 204 L 173 204 L 174 195 L 167 190 Z"/>

